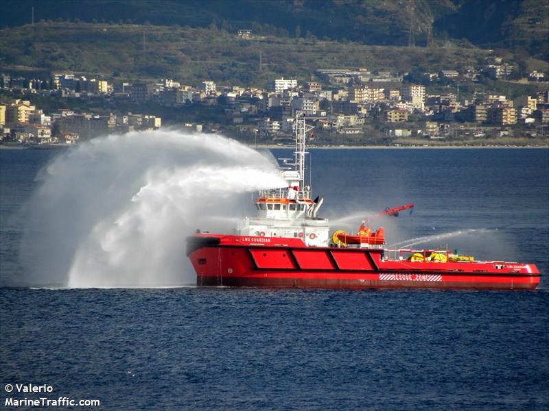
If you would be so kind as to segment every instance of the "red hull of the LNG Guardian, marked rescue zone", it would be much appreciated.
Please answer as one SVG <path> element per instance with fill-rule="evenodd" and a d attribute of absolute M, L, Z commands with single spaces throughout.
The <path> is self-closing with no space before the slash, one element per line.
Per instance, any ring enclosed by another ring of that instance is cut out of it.
<path fill-rule="evenodd" d="M 386 260 L 382 249 L 307 247 L 299 238 L 197 234 L 187 254 L 198 286 L 534 289 L 534 264 Z"/>

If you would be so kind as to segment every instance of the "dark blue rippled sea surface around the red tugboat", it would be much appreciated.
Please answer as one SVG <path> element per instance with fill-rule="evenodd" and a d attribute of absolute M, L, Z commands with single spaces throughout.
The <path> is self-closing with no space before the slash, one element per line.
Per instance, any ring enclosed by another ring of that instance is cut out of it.
<path fill-rule="evenodd" d="M 2 406 L 549 409 L 548 149 L 313 149 L 309 164 L 334 229 L 369 219 L 395 245 L 535 263 L 535 291 L 10 286 L 25 270 L 21 208 L 63 152 L 0 150 Z M 411 215 L 375 217 L 406 203 Z"/>

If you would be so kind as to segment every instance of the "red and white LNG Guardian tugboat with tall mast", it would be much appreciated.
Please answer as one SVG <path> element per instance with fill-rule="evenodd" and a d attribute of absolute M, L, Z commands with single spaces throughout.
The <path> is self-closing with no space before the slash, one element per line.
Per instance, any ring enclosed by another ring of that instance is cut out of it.
<path fill-rule="evenodd" d="M 363 222 L 358 234 L 330 235 L 318 217 L 323 199 L 304 185 L 305 136 L 312 129 L 295 120 L 293 170 L 281 171 L 287 188 L 259 193 L 259 215 L 246 218 L 237 234 L 200 233 L 187 238 L 187 255 L 198 286 L 311 288 L 534 289 L 535 264 L 477 261 L 448 250 L 386 249 L 384 229 Z M 397 216 L 413 204 L 386 209 Z"/>

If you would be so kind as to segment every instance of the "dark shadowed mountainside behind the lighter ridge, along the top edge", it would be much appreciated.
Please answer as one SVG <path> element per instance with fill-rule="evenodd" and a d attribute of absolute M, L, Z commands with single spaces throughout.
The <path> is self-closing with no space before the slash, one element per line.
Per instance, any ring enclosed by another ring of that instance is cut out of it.
<path fill-rule="evenodd" d="M 209 27 L 365 45 L 466 39 L 549 60 L 546 0 L 3 0 L 0 27 L 85 21 Z M 412 35 L 410 36 L 410 30 Z"/>

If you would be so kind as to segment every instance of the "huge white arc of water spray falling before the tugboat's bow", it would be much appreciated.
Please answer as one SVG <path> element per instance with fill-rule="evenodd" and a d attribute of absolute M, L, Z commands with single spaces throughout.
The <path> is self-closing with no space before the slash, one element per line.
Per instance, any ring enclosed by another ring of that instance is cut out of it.
<path fill-rule="evenodd" d="M 91 140 L 38 178 L 25 282 L 74 288 L 193 284 L 185 236 L 231 227 L 246 209 L 240 195 L 284 184 L 270 159 L 234 140 L 169 130 Z"/>

